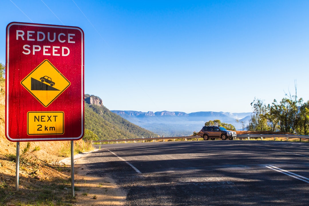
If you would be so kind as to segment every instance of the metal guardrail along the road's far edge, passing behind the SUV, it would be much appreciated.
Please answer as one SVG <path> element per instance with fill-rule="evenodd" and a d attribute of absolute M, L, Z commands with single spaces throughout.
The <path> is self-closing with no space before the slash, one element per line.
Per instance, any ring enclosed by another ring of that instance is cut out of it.
<path fill-rule="evenodd" d="M 239 134 L 237 135 L 237 137 L 248 137 L 248 140 L 250 140 L 250 138 L 261 138 L 261 140 L 263 140 L 263 137 L 273 137 L 274 140 L 276 139 L 276 137 L 285 137 L 287 138 L 287 140 L 289 138 L 299 138 L 299 141 L 302 141 L 302 138 L 305 138 L 305 139 L 309 139 L 309 136 L 307 135 L 291 135 L 291 134 Z M 170 140 L 170 139 L 192 139 L 192 138 L 197 138 L 197 140 L 199 138 L 202 138 L 201 136 L 184 136 L 184 137 L 151 137 L 151 138 L 135 138 L 135 139 L 117 139 L 117 140 L 98 140 L 98 141 L 92 141 L 92 144 L 93 143 L 99 143 L 99 142 L 127 142 L 127 141 L 146 141 L 146 140 L 152 140 L 152 141 L 155 141 L 155 140 Z"/>

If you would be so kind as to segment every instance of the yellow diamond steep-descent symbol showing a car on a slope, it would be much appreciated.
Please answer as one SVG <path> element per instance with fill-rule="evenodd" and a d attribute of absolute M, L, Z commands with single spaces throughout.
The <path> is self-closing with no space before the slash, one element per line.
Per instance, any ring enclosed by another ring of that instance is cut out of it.
<path fill-rule="evenodd" d="M 20 83 L 44 107 L 48 107 L 71 84 L 47 59 Z"/>

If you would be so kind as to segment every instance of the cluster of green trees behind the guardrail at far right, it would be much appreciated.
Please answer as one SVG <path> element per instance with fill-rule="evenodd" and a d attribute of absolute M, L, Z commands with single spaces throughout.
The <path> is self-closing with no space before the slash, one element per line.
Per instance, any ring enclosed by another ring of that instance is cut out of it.
<path fill-rule="evenodd" d="M 309 101 L 298 99 L 296 83 L 295 95 L 285 95 L 280 102 L 274 99 L 273 103 L 267 105 L 264 100 L 254 98 L 247 130 L 309 135 Z"/>

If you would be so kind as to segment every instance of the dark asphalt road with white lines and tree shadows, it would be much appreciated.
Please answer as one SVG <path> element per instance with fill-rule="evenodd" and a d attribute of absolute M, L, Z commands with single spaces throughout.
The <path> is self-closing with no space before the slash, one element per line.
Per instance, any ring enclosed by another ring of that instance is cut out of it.
<path fill-rule="evenodd" d="M 127 191 L 128 206 L 309 205 L 308 143 L 110 144 L 86 161 Z"/>

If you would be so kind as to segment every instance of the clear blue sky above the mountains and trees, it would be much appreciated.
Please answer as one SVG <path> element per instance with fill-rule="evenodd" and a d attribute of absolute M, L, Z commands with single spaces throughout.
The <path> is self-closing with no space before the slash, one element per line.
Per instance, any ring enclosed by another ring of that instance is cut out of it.
<path fill-rule="evenodd" d="M 309 100 L 309 1 L 0 0 L 6 26 L 77 26 L 85 94 L 110 110 L 251 112 L 256 97 Z"/>

